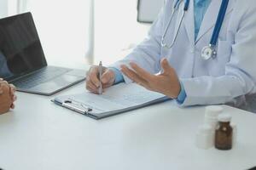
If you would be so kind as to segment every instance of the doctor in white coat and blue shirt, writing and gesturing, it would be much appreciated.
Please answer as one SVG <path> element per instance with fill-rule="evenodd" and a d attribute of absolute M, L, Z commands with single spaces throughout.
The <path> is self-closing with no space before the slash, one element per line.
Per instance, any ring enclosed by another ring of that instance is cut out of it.
<path fill-rule="evenodd" d="M 190 0 L 183 15 L 186 1 L 174 9 L 176 0 L 166 0 L 148 37 L 125 59 L 104 67 L 103 88 L 124 80 L 166 94 L 183 106 L 241 105 L 245 95 L 256 93 L 254 0 L 229 1 L 214 48 L 217 54 L 210 59 L 201 56 L 224 1 Z M 96 65 L 87 72 L 86 88 L 93 93 L 99 88 L 97 75 Z"/>

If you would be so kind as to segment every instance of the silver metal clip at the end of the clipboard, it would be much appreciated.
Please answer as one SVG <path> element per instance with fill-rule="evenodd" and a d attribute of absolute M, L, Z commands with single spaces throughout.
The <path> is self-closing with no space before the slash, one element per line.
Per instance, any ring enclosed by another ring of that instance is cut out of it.
<path fill-rule="evenodd" d="M 92 109 L 89 106 L 84 105 L 78 101 L 74 101 L 73 99 L 65 100 L 62 103 L 62 106 L 66 107 L 67 109 L 77 111 L 83 115 L 87 115 L 90 111 L 92 111 Z"/>

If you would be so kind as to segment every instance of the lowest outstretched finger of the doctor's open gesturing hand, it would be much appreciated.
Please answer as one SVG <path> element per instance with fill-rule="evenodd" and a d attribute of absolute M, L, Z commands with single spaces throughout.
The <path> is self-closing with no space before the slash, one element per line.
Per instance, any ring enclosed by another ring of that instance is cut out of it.
<path fill-rule="evenodd" d="M 143 77 L 139 77 L 135 71 L 131 71 L 127 66 L 121 65 L 121 71 L 132 81 L 142 85 L 144 88 L 149 88 L 147 80 L 143 79 Z"/>

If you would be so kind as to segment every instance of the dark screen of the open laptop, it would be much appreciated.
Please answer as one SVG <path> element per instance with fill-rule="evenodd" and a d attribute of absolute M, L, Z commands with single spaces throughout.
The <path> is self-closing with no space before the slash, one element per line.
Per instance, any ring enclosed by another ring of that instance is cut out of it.
<path fill-rule="evenodd" d="M 12 80 L 46 66 L 32 14 L 0 20 L 0 77 Z"/>

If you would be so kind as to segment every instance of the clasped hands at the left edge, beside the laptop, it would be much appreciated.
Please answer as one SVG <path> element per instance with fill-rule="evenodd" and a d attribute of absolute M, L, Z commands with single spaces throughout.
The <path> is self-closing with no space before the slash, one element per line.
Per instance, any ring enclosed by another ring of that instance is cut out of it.
<path fill-rule="evenodd" d="M 15 86 L 0 79 L 0 114 L 15 108 Z"/>

